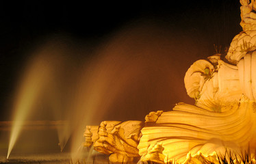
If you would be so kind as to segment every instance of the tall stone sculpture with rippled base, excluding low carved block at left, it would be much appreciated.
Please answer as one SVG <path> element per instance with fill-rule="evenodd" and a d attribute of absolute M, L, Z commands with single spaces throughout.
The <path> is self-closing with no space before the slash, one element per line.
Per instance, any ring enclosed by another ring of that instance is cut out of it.
<path fill-rule="evenodd" d="M 195 105 L 179 103 L 142 128 L 138 145 L 142 161 L 151 144 L 160 142 L 165 162 L 184 163 L 194 156 L 256 148 L 256 14 L 255 1 L 240 1 L 244 29 L 231 42 L 226 58 L 194 62 L 185 74 Z M 251 154 L 250 154 L 251 155 Z M 149 160 L 149 159 L 146 159 Z"/>

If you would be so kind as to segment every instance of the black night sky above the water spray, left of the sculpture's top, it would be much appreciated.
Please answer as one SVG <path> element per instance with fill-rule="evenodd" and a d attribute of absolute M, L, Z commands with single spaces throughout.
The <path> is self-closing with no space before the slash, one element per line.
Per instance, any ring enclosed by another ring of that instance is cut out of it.
<path fill-rule="evenodd" d="M 9 117 L 14 85 L 28 52 L 49 36 L 68 36 L 94 49 L 123 27 L 147 22 L 165 30 L 171 27 L 174 33 L 175 29 L 201 33 L 199 37 L 208 40 L 203 44 L 209 49 L 207 57 L 214 52 L 213 44 L 229 46 L 242 31 L 238 0 L 1 2 L 0 22 L 1 120 Z"/>

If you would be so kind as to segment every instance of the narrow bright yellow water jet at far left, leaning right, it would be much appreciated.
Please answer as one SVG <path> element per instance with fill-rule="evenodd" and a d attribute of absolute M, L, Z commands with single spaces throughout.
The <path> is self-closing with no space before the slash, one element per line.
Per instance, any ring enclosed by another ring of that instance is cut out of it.
<path fill-rule="evenodd" d="M 42 91 L 53 78 L 52 61 L 55 61 L 55 59 L 50 56 L 38 55 L 30 61 L 27 70 L 25 70 L 14 104 L 14 123 L 10 133 L 7 159 L 14 148 L 18 135 L 21 133 L 25 119 L 31 109 L 34 108 L 35 102 L 40 98 Z"/>

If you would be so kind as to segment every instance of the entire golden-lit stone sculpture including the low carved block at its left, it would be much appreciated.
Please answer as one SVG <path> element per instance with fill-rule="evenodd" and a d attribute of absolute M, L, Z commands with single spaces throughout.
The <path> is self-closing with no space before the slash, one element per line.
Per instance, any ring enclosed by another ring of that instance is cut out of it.
<path fill-rule="evenodd" d="M 153 111 L 145 123 L 102 122 L 87 126 L 84 146 L 110 161 L 203 163 L 218 161 L 226 150 L 251 159 L 256 150 L 256 2 L 240 0 L 240 25 L 226 59 L 215 54 L 195 61 L 185 73 L 185 88 L 195 105 L 178 103 L 171 111 Z M 231 154 L 233 156 L 234 154 Z"/>

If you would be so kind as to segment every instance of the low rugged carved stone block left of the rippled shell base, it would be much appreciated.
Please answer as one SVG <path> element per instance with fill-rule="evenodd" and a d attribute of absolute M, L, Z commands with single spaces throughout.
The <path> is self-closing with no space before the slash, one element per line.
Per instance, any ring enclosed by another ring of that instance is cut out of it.
<path fill-rule="evenodd" d="M 129 162 L 139 157 L 137 148 L 143 122 L 104 121 L 100 126 L 86 126 L 84 146 L 109 154 L 112 162 Z"/>

